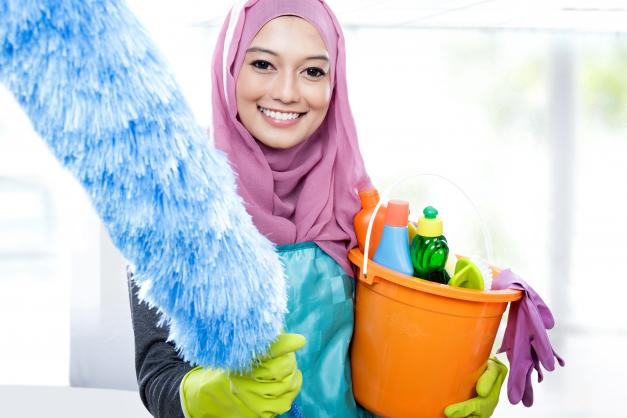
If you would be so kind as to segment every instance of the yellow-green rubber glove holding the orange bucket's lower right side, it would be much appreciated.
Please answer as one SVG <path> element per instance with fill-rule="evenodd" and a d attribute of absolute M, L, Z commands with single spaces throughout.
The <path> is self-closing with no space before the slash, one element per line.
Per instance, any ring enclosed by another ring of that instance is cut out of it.
<path fill-rule="evenodd" d="M 501 386 L 507 376 L 507 366 L 495 356 L 488 360 L 488 367 L 477 381 L 477 396 L 464 402 L 449 405 L 444 410 L 448 418 L 491 417 L 499 403 Z"/>

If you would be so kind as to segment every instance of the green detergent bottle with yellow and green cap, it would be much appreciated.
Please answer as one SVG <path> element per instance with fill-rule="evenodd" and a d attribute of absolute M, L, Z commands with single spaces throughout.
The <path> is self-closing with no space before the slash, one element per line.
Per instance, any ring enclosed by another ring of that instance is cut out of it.
<path fill-rule="evenodd" d="M 442 235 L 442 220 L 433 206 L 423 210 L 418 219 L 418 232 L 411 242 L 414 276 L 447 284 L 450 276 L 444 269 L 448 258 L 448 243 Z"/>

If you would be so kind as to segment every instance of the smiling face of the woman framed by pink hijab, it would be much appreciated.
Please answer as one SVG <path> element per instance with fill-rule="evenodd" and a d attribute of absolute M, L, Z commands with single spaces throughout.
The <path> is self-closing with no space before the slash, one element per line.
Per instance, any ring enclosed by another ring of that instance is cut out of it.
<path fill-rule="evenodd" d="M 331 101 L 329 54 L 306 20 L 281 16 L 250 43 L 235 86 L 242 124 L 259 142 L 290 148 L 324 120 Z"/>

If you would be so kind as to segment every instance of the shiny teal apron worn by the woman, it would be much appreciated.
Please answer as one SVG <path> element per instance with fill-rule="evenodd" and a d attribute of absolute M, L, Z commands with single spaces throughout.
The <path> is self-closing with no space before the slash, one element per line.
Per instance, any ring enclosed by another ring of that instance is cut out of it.
<path fill-rule="evenodd" d="M 355 403 L 351 384 L 353 278 L 313 242 L 278 246 L 277 251 L 288 284 L 286 332 L 307 338 L 296 352 L 303 373 L 296 403 L 306 418 L 370 416 Z"/>

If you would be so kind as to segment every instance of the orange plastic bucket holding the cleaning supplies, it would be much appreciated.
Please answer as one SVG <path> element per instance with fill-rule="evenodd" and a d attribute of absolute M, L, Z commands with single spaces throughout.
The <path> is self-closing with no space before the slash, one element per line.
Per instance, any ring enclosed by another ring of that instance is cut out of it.
<path fill-rule="evenodd" d="M 382 417 L 438 418 L 476 396 L 507 303 L 518 290 L 460 289 L 349 252 L 359 268 L 351 366 L 355 399 Z"/>

